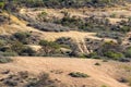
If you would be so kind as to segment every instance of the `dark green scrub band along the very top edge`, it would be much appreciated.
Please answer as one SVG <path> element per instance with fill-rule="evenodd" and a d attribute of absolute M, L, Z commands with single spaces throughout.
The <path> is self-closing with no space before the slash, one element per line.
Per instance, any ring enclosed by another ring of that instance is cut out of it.
<path fill-rule="evenodd" d="M 82 8 L 82 7 L 107 7 L 107 5 L 115 5 L 115 4 L 121 4 L 123 5 L 124 1 L 130 0 L 7 0 L 10 3 L 15 3 L 17 5 L 25 5 L 29 8 L 36 8 L 36 7 L 47 7 L 47 8 Z M 4 0 L 1 0 L 0 8 L 4 8 L 5 2 Z M 12 7 L 17 7 L 12 5 Z"/>

